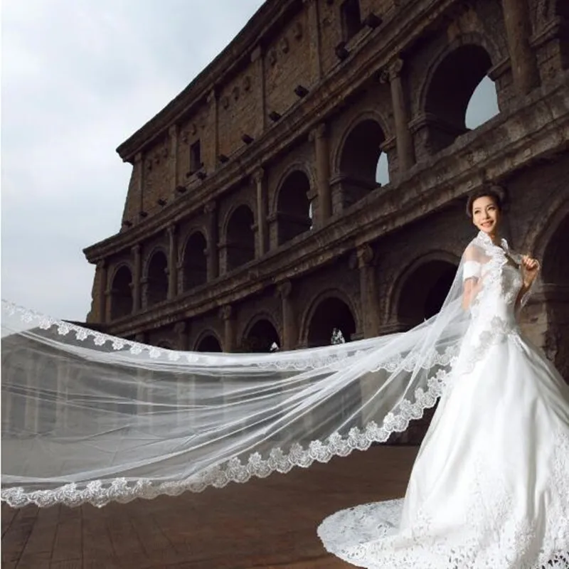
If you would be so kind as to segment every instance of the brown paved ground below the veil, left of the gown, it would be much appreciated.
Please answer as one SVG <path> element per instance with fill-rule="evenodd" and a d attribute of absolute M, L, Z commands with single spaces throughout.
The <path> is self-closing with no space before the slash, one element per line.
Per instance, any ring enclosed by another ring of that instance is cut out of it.
<path fill-rule="evenodd" d="M 417 447 L 374 447 L 289 474 L 131 504 L 2 506 L 2 569 L 340 569 L 316 527 L 403 496 Z M 395 569 L 395 568 L 394 568 Z"/>

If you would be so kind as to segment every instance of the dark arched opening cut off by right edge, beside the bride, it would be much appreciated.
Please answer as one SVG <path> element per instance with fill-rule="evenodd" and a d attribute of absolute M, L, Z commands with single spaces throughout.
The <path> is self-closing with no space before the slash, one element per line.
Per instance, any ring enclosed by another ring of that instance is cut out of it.
<path fill-rule="evenodd" d="M 553 233 L 543 252 L 541 280 L 546 296 L 548 329 L 545 351 L 569 383 L 569 215 Z"/>

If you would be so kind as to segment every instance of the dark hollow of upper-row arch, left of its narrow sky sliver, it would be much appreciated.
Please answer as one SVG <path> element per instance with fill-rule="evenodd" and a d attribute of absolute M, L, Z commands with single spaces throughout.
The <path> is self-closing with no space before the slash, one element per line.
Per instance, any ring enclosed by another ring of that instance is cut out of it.
<path fill-rule="evenodd" d="M 343 208 L 361 200 L 378 184 L 388 183 L 387 155 L 381 151 L 383 142 L 383 129 L 373 119 L 359 122 L 346 137 L 341 149 L 337 182 Z"/>

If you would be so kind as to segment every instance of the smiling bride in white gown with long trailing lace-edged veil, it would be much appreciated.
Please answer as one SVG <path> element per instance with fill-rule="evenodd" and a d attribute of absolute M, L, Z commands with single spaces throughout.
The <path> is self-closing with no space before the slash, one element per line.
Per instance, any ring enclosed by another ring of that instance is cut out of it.
<path fill-rule="evenodd" d="M 405 499 L 318 529 L 365 568 L 569 568 L 569 386 L 517 322 L 538 263 L 501 203 L 439 314 L 404 334 L 266 354 L 146 346 L 2 302 L 1 499 L 152 499 L 347 456 L 438 408 Z"/>

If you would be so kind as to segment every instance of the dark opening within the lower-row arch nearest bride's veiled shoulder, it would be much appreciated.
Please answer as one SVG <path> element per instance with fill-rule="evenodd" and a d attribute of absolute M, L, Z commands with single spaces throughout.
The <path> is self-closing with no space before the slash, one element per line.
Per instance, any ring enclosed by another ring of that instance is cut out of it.
<path fill-rule="evenodd" d="M 457 266 L 443 260 L 427 261 L 405 280 L 398 303 L 398 319 L 417 326 L 440 311 L 457 273 Z"/>

